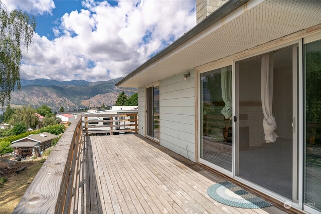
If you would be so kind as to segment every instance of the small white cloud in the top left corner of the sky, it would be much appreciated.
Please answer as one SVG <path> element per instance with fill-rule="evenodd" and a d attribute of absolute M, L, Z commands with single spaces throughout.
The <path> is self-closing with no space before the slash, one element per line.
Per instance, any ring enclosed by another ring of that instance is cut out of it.
<path fill-rule="evenodd" d="M 51 14 L 55 8 L 53 0 L 2 0 L 9 11 L 23 10 L 33 15 Z"/>

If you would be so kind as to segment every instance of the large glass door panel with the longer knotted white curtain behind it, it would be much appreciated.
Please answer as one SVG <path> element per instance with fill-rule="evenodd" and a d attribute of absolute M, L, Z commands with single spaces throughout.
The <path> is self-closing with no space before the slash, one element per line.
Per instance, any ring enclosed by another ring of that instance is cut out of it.
<path fill-rule="evenodd" d="M 297 201 L 297 45 L 236 62 L 236 176 Z"/>

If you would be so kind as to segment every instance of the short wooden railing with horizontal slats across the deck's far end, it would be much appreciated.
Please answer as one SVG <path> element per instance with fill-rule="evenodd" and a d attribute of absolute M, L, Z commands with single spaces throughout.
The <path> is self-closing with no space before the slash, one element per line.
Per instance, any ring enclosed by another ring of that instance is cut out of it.
<path fill-rule="evenodd" d="M 83 115 L 83 125 L 86 136 L 90 133 L 108 133 L 113 135 L 113 133 L 117 132 L 138 132 L 137 113 L 86 114 Z"/>

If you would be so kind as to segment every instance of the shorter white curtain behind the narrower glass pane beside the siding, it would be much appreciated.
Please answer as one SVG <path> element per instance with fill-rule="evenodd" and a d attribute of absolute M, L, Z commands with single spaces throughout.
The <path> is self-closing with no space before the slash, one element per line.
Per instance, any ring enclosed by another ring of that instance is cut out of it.
<path fill-rule="evenodd" d="M 225 103 L 221 113 L 226 119 L 232 119 L 232 71 L 228 67 L 221 68 L 222 98 Z"/>

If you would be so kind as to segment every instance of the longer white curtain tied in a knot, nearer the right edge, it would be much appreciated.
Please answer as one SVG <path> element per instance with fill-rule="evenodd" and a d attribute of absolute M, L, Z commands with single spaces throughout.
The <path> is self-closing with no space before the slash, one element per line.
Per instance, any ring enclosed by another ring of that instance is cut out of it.
<path fill-rule="evenodd" d="M 274 130 L 276 129 L 275 118 L 272 114 L 273 104 L 273 61 L 269 60 L 269 54 L 262 56 L 261 65 L 261 100 L 264 114 L 263 129 L 267 143 L 275 142 L 278 137 Z"/>

